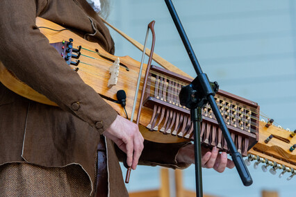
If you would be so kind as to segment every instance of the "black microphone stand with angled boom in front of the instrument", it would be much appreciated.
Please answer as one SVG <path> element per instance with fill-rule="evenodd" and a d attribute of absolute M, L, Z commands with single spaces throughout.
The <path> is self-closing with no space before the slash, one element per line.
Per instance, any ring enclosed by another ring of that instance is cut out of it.
<path fill-rule="evenodd" d="M 188 40 L 188 37 L 183 29 L 181 21 L 176 13 L 174 5 L 171 0 L 165 0 L 167 8 L 170 11 L 174 24 L 179 32 L 181 40 L 186 48 L 186 51 L 189 55 L 189 58 L 192 62 L 193 67 L 197 73 L 197 78 L 192 80 L 190 85 L 182 87 L 179 94 L 179 99 L 181 105 L 186 105 L 187 108 L 190 108 L 190 115 L 193 122 L 194 135 L 195 135 L 195 180 L 196 180 L 196 193 L 197 196 L 202 197 L 202 163 L 201 163 L 201 146 L 200 146 L 200 123 L 202 122 L 202 107 L 206 103 L 210 103 L 211 108 L 215 114 L 217 122 L 222 130 L 224 138 L 227 141 L 227 145 L 231 152 L 231 157 L 236 165 L 236 169 L 240 175 L 243 185 L 249 186 L 252 185 L 253 180 L 245 162 L 242 160 L 242 155 L 238 153 L 235 144 L 231 139 L 229 130 L 222 118 L 222 115 L 215 103 L 215 92 L 218 90 L 217 82 L 210 83 L 208 76 L 202 72 L 202 69 L 197 61 L 195 53 L 192 49 L 192 46 Z"/>

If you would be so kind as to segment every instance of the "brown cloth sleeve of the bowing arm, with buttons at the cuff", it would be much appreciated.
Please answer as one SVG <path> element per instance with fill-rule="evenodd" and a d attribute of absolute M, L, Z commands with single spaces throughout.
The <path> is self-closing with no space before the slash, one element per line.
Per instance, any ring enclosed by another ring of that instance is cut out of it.
<path fill-rule="evenodd" d="M 38 10 L 46 6 L 46 0 L 1 1 L 0 60 L 17 78 L 60 108 L 104 132 L 117 112 L 83 83 L 35 26 Z M 74 103 L 79 103 L 78 110 Z"/>

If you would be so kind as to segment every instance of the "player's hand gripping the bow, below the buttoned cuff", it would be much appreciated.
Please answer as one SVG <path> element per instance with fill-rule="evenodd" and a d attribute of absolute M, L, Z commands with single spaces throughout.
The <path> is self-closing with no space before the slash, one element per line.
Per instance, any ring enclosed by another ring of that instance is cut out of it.
<path fill-rule="evenodd" d="M 126 153 L 126 164 L 135 170 L 144 148 L 144 138 L 138 126 L 117 115 L 115 121 L 103 132 L 103 135 L 115 142 Z"/>

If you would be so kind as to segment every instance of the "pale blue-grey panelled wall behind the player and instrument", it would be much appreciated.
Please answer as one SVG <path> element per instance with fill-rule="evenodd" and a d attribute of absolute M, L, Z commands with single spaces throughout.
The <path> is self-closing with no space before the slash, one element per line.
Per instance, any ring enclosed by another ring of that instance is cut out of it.
<path fill-rule="evenodd" d="M 295 1 L 175 0 L 173 3 L 210 80 L 217 80 L 220 89 L 257 102 L 265 116 L 283 128 L 295 130 Z M 142 44 L 147 24 L 155 20 L 155 53 L 196 76 L 165 1 L 113 0 L 110 10 L 108 22 Z M 138 49 L 114 31 L 111 33 L 116 55 L 129 55 L 140 61 Z M 138 166 L 126 187 L 129 191 L 157 189 L 159 170 Z M 279 172 L 271 175 L 252 166 L 249 171 L 254 184 L 244 187 L 236 169 L 224 173 L 203 169 L 204 193 L 257 197 L 262 189 L 268 189 L 278 191 L 281 197 L 295 195 L 296 178 L 287 181 L 288 175 L 278 178 Z M 184 170 L 183 175 L 186 189 L 195 190 L 194 166 Z"/>

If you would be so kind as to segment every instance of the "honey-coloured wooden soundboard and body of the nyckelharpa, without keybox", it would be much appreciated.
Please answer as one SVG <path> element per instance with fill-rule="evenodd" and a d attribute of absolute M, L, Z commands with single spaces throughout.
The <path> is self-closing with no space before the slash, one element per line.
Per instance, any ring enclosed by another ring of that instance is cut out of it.
<path fill-rule="evenodd" d="M 43 33 L 49 43 L 56 43 L 56 42 L 63 42 L 63 40 L 69 40 L 72 38 L 73 47 L 82 46 L 84 49 L 81 49 L 81 56 L 79 60 L 81 62 L 87 62 L 88 65 L 80 63 L 79 64 L 79 71 L 78 74 L 82 78 L 82 80 L 90 85 L 96 92 L 98 92 L 103 98 L 109 103 L 122 117 L 126 117 L 124 114 L 124 110 L 122 106 L 118 103 L 114 103 L 113 101 L 117 101 L 117 91 L 120 89 L 124 89 L 126 92 L 126 112 L 128 113 L 129 117 L 131 117 L 131 110 L 133 108 L 133 101 L 135 98 L 135 89 L 138 80 L 138 73 L 140 70 L 140 62 L 133 60 L 129 56 L 120 57 L 120 62 L 129 68 L 129 71 L 126 70 L 125 67 L 120 66 L 120 71 L 117 79 L 117 85 L 113 87 L 108 87 L 108 80 L 110 78 L 109 68 L 113 64 L 112 61 L 108 61 L 102 56 L 106 56 L 109 59 L 115 61 L 117 56 L 111 55 L 110 53 L 106 52 L 104 49 L 99 46 L 99 44 L 95 42 L 89 42 L 88 40 L 84 40 L 79 35 L 72 33 L 71 31 L 52 31 L 54 30 L 62 30 L 64 29 L 62 26 L 55 24 L 54 22 L 50 22 L 46 19 L 42 19 L 40 17 L 36 18 L 36 25 L 38 27 L 45 26 L 47 28 L 40 28 L 40 32 Z M 51 29 L 49 29 L 51 28 Z M 88 50 L 85 50 L 88 49 Z M 99 51 L 95 53 L 95 51 Z M 92 58 L 88 58 L 92 57 Z M 94 59 L 95 58 L 95 59 Z M 92 66 L 90 66 L 92 65 Z M 144 65 L 142 73 L 145 74 L 146 66 Z M 75 66 L 72 66 L 73 69 Z M 141 76 L 141 81 L 144 78 L 144 75 Z M 39 103 L 44 103 L 47 105 L 56 105 L 56 103 L 47 99 L 46 96 L 39 94 L 34 89 L 23 83 L 19 80 L 11 71 L 8 71 L 6 67 L 0 62 L 0 81 L 8 87 L 8 89 L 12 90 L 13 92 L 26 97 L 27 99 L 31 99 L 33 101 L 37 101 Z M 140 85 L 141 87 L 141 85 Z M 135 112 L 138 111 L 138 103 L 140 101 L 140 94 L 141 89 L 137 96 L 137 105 L 135 106 Z M 150 141 L 154 142 L 163 142 L 163 143 L 174 143 L 174 142 L 184 142 L 186 139 L 176 138 L 174 136 L 166 136 L 163 137 L 162 133 L 154 133 L 154 135 L 150 135 L 151 133 L 148 132 L 145 126 L 149 123 L 151 110 L 149 108 L 143 108 L 140 118 L 140 131 L 142 132 L 143 137 L 145 139 L 149 139 Z M 134 117 L 134 121 L 136 116 Z"/>

